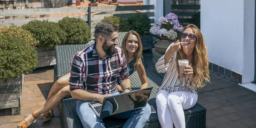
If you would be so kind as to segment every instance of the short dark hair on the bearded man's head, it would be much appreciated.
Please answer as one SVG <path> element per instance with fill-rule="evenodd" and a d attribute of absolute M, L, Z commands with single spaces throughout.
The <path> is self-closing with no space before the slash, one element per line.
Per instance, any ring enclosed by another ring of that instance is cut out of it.
<path fill-rule="evenodd" d="M 99 24 L 95 27 L 94 37 L 95 39 L 97 39 L 99 36 L 104 36 L 105 38 L 106 36 L 110 36 L 114 31 L 118 30 L 119 28 L 110 22 L 99 22 Z"/>

